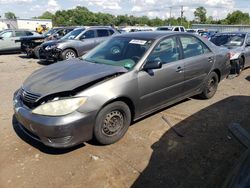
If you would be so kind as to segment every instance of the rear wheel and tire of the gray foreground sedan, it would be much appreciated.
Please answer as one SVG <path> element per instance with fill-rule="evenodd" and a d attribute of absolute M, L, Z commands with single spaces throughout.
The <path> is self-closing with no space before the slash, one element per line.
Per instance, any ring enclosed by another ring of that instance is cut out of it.
<path fill-rule="evenodd" d="M 208 75 L 208 79 L 205 83 L 203 92 L 200 94 L 200 97 L 203 99 L 212 98 L 217 91 L 218 84 L 219 84 L 218 75 L 215 72 L 211 72 Z"/>

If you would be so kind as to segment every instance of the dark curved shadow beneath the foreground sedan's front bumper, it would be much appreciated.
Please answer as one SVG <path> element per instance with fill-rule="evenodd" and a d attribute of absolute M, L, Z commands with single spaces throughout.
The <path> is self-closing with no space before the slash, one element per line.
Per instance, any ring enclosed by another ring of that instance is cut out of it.
<path fill-rule="evenodd" d="M 12 117 L 12 125 L 13 128 L 16 132 L 16 134 L 26 143 L 28 143 L 29 145 L 39 149 L 41 152 L 43 153 L 47 153 L 47 154 L 52 154 L 52 155 L 61 155 L 61 154 L 65 154 L 65 153 L 69 153 L 72 152 L 76 149 L 82 148 L 84 147 L 84 144 L 79 144 L 77 146 L 74 146 L 72 148 L 66 148 L 66 149 L 57 149 L 57 148 L 51 148 L 51 147 L 47 147 L 45 145 L 43 145 L 42 143 L 30 138 L 29 136 L 27 136 L 22 129 L 20 129 L 18 122 L 15 118 L 15 116 Z"/>

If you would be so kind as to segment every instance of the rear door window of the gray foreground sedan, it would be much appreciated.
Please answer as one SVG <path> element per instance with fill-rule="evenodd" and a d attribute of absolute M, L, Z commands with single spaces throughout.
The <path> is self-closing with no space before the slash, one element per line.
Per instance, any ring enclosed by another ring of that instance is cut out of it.
<path fill-rule="evenodd" d="M 180 40 L 183 48 L 184 58 L 194 57 L 211 52 L 211 50 L 196 37 L 181 36 Z"/>

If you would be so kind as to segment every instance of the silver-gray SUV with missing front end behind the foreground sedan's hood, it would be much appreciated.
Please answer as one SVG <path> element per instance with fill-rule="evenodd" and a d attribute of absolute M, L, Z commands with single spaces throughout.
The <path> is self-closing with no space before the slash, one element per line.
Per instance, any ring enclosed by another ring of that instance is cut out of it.
<path fill-rule="evenodd" d="M 112 27 L 83 27 L 65 35 L 61 40 L 45 42 L 39 50 L 39 59 L 58 61 L 82 56 L 113 34 L 120 34 Z"/>

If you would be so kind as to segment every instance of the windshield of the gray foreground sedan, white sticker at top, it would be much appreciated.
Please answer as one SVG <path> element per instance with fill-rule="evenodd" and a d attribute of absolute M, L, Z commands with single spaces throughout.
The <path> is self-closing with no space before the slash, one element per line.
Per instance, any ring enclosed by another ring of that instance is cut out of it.
<path fill-rule="evenodd" d="M 132 69 L 152 43 L 153 40 L 148 39 L 114 37 L 91 50 L 82 59 Z"/>

